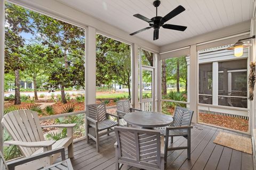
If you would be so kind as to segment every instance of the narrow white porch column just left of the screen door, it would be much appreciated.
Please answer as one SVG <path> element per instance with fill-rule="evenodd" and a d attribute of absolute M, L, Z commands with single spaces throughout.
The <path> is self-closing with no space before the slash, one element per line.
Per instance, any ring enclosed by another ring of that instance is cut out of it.
<path fill-rule="evenodd" d="M 138 45 L 132 45 L 132 101 L 133 107 L 139 108 L 139 61 L 138 61 Z"/>

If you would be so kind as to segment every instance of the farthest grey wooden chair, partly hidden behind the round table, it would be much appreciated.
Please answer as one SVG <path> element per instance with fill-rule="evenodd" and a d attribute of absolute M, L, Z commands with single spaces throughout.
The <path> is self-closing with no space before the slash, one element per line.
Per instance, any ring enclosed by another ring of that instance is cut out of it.
<path fill-rule="evenodd" d="M 124 115 L 126 113 L 131 113 L 131 112 L 134 112 L 134 111 L 141 111 L 140 109 L 137 109 L 137 108 L 132 108 L 131 105 L 130 105 L 130 100 L 119 100 L 116 102 L 116 107 L 117 107 L 117 115 L 119 116 L 119 121 L 122 120 L 122 125 L 127 125 L 127 122 L 125 122 L 123 120 L 124 118 Z"/>

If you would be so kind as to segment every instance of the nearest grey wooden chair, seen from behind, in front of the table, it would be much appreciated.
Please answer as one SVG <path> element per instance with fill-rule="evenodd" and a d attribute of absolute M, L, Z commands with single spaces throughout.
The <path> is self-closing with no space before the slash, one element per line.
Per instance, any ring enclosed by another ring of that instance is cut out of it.
<path fill-rule="evenodd" d="M 115 127 L 115 132 L 116 170 L 123 165 L 164 169 L 164 143 L 161 145 L 160 132 L 121 126 Z"/>

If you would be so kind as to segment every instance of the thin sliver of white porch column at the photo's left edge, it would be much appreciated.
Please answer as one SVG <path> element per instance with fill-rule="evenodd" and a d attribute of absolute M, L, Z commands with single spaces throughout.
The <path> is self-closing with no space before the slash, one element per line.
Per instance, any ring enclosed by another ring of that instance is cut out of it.
<path fill-rule="evenodd" d="M 4 0 L 0 0 L 0 120 L 4 115 Z M 0 151 L 3 152 L 4 133 L 0 125 Z"/>

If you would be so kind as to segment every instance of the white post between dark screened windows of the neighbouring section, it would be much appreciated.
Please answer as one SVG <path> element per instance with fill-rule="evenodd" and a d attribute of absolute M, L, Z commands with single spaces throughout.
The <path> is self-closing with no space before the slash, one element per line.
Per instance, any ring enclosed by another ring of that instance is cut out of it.
<path fill-rule="evenodd" d="M 219 88 L 218 88 L 218 74 L 219 74 L 219 63 L 213 62 L 212 63 L 212 105 L 218 105 L 218 95 L 219 95 Z"/>

